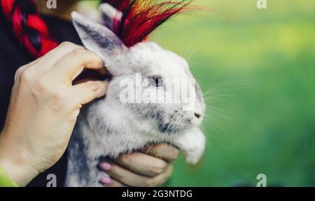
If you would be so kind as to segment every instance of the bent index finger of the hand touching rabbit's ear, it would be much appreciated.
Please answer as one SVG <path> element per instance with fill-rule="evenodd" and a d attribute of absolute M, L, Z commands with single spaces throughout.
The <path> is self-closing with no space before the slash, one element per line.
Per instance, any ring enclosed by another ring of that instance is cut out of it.
<path fill-rule="evenodd" d="M 83 71 L 84 68 L 100 71 L 104 68 L 102 58 L 90 50 L 82 48 L 72 50 L 55 64 L 55 75 L 70 83 Z"/>

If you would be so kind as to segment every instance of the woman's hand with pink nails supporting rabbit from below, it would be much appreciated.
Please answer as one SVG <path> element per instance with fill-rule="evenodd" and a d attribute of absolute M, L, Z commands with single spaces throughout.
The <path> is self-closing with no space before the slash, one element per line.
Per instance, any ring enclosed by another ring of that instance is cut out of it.
<path fill-rule="evenodd" d="M 101 179 L 104 186 L 161 186 L 172 174 L 172 161 L 179 150 L 167 144 L 148 146 L 142 153 L 121 155 L 99 167 L 109 174 Z"/>

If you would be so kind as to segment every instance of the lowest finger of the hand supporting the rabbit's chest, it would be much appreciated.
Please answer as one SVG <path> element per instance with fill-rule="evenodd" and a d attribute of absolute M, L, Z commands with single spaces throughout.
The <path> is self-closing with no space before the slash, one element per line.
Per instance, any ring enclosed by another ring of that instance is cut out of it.
<path fill-rule="evenodd" d="M 169 175 L 172 173 L 172 165 L 169 165 L 165 172 L 162 172 L 155 177 L 148 177 L 136 174 L 128 169 L 125 169 L 124 167 L 120 167 L 115 163 L 111 165 L 106 173 L 109 174 L 111 178 L 127 186 L 159 186 L 162 185 L 162 183 L 167 181 L 167 179 L 169 178 Z"/>

